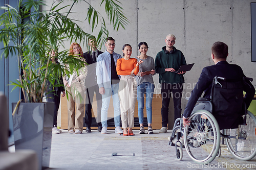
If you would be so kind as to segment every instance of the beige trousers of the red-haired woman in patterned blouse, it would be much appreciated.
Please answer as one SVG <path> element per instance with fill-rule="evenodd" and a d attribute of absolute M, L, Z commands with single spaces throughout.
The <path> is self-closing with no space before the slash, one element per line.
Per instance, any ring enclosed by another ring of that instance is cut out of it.
<path fill-rule="evenodd" d="M 66 86 L 66 93 L 69 95 L 68 130 L 79 129 L 82 132 L 84 114 L 84 87 L 80 83 L 76 82 L 72 84 L 71 87 Z"/>

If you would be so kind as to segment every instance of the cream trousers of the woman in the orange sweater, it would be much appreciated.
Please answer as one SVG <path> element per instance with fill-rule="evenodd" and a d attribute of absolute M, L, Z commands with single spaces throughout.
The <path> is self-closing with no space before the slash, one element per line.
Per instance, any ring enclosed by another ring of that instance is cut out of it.
<path fill-rule="evenodd" d="M 118 96 L 120 100 L 120 110 L 122 128 L 134 127 L 134 109 L 137 99 L 137 83 L 133 76 L 121 76 L 119 82 Z"/>

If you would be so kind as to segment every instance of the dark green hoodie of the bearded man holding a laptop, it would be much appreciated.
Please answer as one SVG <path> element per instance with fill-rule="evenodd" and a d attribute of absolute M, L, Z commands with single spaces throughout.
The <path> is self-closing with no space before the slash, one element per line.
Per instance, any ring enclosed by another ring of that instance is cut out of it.
<path fill-rule="evenodd" d="M 165 53 L 166 46 L 162 47 L 155 59 L 156 73 L 159 74 L 159 83 L 184 83 L 183 75 L 175 72 L 165 71 L 165 68 L 174 68 L 178 70 L 181 65 L 186 65 L 186 60 L 180 50 L 174 48 L 173 53 Z"/>

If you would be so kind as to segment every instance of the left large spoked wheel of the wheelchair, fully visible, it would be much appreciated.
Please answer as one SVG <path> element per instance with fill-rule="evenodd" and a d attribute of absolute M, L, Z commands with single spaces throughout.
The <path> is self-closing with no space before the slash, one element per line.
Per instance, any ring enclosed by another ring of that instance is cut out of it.
<path fill-rule="evenodd" d="M 197 163 L 209 163 L 219 152 L 220 129 L 216 118 L 206 110 L 198 110 L 184 130 L 187 154 Z"/>

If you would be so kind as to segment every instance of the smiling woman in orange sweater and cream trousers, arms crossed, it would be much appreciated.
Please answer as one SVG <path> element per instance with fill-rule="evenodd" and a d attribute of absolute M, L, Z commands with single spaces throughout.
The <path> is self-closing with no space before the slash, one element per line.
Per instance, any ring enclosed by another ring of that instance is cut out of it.
<path fill-rule="evenodd" d="M 137 59 L 131 58 L 132 46 L 123 45 L 123 58 L 118 59 L 116 63 L 117 75 L 121 76 L 119 82 L 119 100 L 121 109 L 121 119 L 123 136 L 134 135 L 134 109 L 137 98 L 137 83 L 134 78 L 139 72 L 139 65 L 143 61 L 137 62 Z M 129 125 L 129 129 L 127 127 Z"/>

